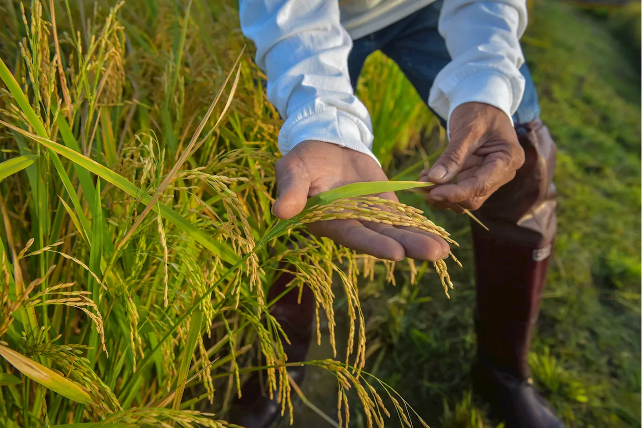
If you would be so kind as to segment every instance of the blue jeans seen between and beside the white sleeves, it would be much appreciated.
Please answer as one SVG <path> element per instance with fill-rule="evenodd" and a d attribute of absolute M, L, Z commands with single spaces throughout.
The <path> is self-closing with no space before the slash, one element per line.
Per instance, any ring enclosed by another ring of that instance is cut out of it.
<path fill-rule="evenodd" d="M 428 102 L 428 94 L 437 73 L 450 62 L 446 42 L 437 31 L 442 0 L 435 1 L 412 15 L 375 33 L 354 40 L 348 57 L 352 87 L 356 87 L 363 62 L 380 50 L 399 65 L 419 95 Z M 539 117 L 540 108 L 533 78 L 526 64 L 519 69 L 526 79 L 524 96 L 513 116 L 515 124 L 528 123 Z M 442 124 L 445 121 L 440 117 Z"/>

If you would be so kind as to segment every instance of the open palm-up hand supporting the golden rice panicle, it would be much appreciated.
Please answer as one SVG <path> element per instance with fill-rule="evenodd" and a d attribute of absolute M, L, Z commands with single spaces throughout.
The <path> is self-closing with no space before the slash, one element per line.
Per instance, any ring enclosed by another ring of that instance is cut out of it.
<path fill-rule="evenodd" d="M 309 197 L 334 187 L 355 182 L 388 180 L 381 167 L 368 155 L 313 140 L 297 144 L 279 159 L 275 173 L 279 196 L 272 212 L 280 219 L 299 214 Z M 398 201 L 392 192 L 377 196 Z M 449 253 L 449 246 L 444 239 L 410 227 L 336 219 L 309 223 L 308 230 L 379 259 L 398 261 L 410 257 L 436 261 Z"/>

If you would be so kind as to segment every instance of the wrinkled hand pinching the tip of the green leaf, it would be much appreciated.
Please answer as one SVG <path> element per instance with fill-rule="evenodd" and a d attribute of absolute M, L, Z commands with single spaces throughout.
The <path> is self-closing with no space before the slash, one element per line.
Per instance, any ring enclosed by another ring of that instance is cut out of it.
<path fill-rule="evenodd" d="M 488 104 L 464 103 L 451 114 L 446 151 L 419 180 L 439 184 L 428 190 L 428 201 L 438 207 L 476 210 L 523 163 L 524 150 L 508 116 Z"/>

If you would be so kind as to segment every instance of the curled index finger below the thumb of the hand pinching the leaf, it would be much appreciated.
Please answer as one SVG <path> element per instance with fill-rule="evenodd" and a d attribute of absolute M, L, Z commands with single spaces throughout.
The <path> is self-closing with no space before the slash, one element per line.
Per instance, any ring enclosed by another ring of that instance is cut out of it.
<path fill-rule="evenodd" d="M 505 158 L 489 156 L 473 176 L 457 184 L 438 187 L 430 193 L 430 198 L 437 202 L 456 203 L 472 198 L 488 197 L 514 176 L 515 171 L 508 169 Z"/>

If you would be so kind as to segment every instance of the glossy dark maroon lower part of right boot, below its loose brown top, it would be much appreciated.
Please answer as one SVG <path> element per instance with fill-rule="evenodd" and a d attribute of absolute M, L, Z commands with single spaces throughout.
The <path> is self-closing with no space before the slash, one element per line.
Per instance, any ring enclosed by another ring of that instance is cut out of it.
<path fill-rule="evenodd" d="M 473 243 L 478 343 L 474 390 L 507 428 L 564 427 L 537 394 L 528 368 L 550 256 L 537 260 L 537 250 L 501 242 L 479 230 L 473 233 Z"/>

